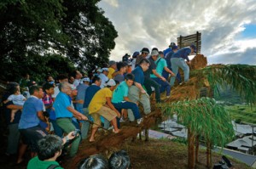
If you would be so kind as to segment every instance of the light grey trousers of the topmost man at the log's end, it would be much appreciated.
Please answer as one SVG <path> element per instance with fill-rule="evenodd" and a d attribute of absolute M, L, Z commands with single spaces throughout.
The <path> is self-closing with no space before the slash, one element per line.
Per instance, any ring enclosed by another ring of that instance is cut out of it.
<path fill-rule="evenodd" d="M 172 63 L 172 71 L 175 75 L 177 75 L 177 70 L 178 68 L 181 68 L 184 72 L 184 82 L 189 81 L 189 65 L 185 62 L 183 58 L 172 58 L 171 59 Z M 175 76 L 171 77 L 171 87 L 174 85 L 175 82 Z"/>

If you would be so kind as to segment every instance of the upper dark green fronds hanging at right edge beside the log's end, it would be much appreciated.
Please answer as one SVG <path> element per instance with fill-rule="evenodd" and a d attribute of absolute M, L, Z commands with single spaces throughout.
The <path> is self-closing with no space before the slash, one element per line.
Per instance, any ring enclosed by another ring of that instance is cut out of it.
<path fill-rule="evenodd" d="M 214 65 L 202 70 L 211 87 L 217 89 L 230 86 L 232 90 L 247 101 L 256 103 L 256 66 L 255 65 Z"/>

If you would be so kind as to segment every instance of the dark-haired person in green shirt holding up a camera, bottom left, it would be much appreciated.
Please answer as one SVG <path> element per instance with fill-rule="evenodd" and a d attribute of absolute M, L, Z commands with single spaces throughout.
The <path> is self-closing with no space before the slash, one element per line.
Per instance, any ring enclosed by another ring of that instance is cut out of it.
<path fill-rule="evenodd" d="M 65 138 L 56 135 L 47 135 L 38 141 L 38 156 L 32 158 L 27 165 L 27 169 L 61 169 L 56 161 L 61 155 L 63 145 L 75 138 L 74 132 L 69 132 Z"/>

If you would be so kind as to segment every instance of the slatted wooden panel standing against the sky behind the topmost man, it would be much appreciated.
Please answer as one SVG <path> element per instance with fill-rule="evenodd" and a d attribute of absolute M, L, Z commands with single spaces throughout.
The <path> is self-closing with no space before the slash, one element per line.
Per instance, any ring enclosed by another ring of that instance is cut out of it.
<path fill-rule="evenodd" d="M 191 44 L 195 45 L 197 49 L 196 54 L 201 54 L 201 33 L 197 31 L 193 35 L 177 37 L 177 45 L 179 48 L 189 47 Z"/>

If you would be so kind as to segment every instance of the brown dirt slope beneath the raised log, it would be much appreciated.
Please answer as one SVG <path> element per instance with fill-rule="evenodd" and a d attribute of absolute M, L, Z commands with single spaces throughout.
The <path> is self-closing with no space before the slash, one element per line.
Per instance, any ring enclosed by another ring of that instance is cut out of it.
<path fill-rule="evenodd" d="M 79 164 L 79 161 L 84 159 L 86 154 L 90 154 L 90 149 L 84 149 L 84 147 L 94 147 L 92 144 L 83 143 L 79 147 L 79 154 L 73 158 L 62 161 L 61 166 L 67 169 L 75 169 Z M 171 140 L 166 139 L 150 139 L 149 142 L 144 142 L 143 140 L 132 141 L 131 138 L 127 138 L 123 144 L 116 145 L 114 147 L 109 147 L 108 149 L 98 152 L 107 158 L 112 154 L 113 151 L 119 149 L 125 149 L 130 156 L 131 168 L 132 169 L 185 169 L 187 168 L 187 147 L 184 144 L 179 144 Z M 80 155 L 84 154 L 84 158 L 80 158 Z M 3 158 L 1 157 L 3 160 Z M 77 161 L 79 159 L 79 161 Z M 206 152 L 204 150 L 200 151 L 199 154 L 200 163 L 196 165 L 197 169 L 206 169 Z M 212 165 L 218 163 L 221 160 L 221 155 L 212 155 Z M 232 161 L 233 169 L 249 169 L 251 167 L 246 166 L 241 162 Z M 1 167 L 4 169 L 24 169 L 26 168 L 26 163 L 21 166 L 15 166 L 10 163 L 10 161 L 2 161 Z M 70 164 L 72 164 L 70 166 Z"/>

